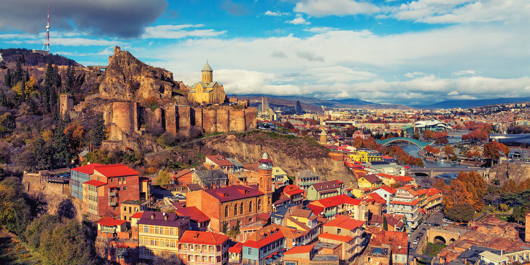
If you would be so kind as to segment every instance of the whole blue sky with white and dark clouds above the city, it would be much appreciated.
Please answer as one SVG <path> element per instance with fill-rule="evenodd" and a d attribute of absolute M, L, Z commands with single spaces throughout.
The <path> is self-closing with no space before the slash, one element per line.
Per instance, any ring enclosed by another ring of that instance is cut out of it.
<path fill-rule="evenodd" d="M 0 48 L 107 65 L 114 46 L 227 95 L 427 105 L 530 96 L 530 0 L 4 0 Z M 28 8 L 31 6 L 32 8 Z"/>

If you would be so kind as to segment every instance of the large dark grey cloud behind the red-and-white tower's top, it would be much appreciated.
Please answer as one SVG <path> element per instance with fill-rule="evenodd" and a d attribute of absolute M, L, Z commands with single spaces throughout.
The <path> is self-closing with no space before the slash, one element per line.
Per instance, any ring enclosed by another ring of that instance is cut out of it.
<path fill-rule="evenodd" d="M 77 29 L 99 36 L 138 37 L 167 9 L 165 0 L 6 0 L 0 2 L 0 29 L 37 33 Z M 16 21 L 16 23 L 14 23 Z"/>

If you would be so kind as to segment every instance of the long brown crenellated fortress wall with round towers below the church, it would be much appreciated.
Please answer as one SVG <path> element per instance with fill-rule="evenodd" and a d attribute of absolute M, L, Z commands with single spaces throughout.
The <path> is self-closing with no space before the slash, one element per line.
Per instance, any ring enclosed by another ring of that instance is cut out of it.
<path fill-rule="evenodd" d="M 112 107 L 103 113 L 105 124 L 110 126 L 109 140 L 120 141 L 134 133 L 142 135 L 146 128 L 167 131 L 176 135 L 179 131 L 189 133 L 193 126 L 204 129 L 205 133 L 227 133 L 256 129 L 256 108 L 234 109 L 191 108 L 188 105 L 166 105 L 151 110 L 140 107 L 138 102 L 113 102 Z"/>

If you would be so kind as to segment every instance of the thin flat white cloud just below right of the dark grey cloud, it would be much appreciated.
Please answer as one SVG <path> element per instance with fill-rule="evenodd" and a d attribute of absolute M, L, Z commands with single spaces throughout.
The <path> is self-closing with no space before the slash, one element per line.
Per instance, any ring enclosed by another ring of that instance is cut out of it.
<path fill-rule="evenodd" d="M 206 30 L 184 30 L 187 28 L 201 28 L 203 24 L 184 24 L 184 25 L 157 25 L 154 27 L 146 27 L 145 33 L 142 34 L 143 39 L 183 39 L 186 37 L 216 37 L 226 33 L 226 30 L 215 31 L 213 29 Z"/>

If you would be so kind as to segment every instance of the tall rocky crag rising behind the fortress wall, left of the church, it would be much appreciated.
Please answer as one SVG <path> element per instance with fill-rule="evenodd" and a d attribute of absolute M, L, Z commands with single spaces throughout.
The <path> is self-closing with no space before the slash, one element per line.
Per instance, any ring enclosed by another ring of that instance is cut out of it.
<path fill-rule="evenodd" d="M 128 51 L 114 47 L 109 66 L 100 76 L 100 95 L 116 100 L 137 100 L 155 96 L 170 99 L 180 83 L 173 81 L 173 73 L 142 63 Z"/>

